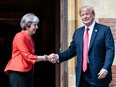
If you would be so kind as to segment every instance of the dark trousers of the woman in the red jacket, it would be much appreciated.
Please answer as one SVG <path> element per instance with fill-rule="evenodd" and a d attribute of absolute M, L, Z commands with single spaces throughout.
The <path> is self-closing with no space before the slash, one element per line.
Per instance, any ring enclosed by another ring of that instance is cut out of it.
<path fill-rule="evenodd" d="M 11 87 L 34 87 L 33 73 L 9 71 L 9 83 Z"/>

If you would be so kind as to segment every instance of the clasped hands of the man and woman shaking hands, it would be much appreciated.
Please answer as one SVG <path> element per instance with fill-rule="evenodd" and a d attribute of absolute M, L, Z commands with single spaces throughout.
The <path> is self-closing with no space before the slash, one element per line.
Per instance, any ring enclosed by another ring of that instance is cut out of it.
<path fill-rule="evenodd" d="M 59 60 L 59 56 L 58 54 L 50 54 L 50 55 L 44 55 L 45 56 L 45 59 L 46 61 L 49 61 L 51 63 L 58 63 L 58 60 Z"/>

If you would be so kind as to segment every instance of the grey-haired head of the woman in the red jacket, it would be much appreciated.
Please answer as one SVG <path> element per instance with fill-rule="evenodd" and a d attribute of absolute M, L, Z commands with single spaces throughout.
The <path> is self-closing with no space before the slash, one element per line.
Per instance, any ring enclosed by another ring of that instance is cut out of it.
<path fill-rule="evenodd" d="M 35 16 L 33 13 L 28 13 L 22 17 L 20 26 L 22 30 L 31 36 L 35 34 L 36 30 L 38 29 L 39 18 Z"/>

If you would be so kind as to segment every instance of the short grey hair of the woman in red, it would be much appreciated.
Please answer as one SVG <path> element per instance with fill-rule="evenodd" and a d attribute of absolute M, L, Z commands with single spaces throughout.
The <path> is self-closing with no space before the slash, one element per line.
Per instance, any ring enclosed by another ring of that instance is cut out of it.
<path fill-rule="evenodd" d="M 21 18 L 20 26 L 22 29 L 30 27 L 31 23 L 39 23 L 39 18 L 34 13 L 27 13 Z"/>

